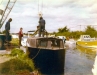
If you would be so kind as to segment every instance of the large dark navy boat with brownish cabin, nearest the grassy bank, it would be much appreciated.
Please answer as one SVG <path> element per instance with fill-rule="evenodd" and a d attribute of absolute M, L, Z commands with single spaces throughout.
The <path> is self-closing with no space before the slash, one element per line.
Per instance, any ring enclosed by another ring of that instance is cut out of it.
<path fill-rule="evenodd" d="M 44 75 L 61 75 L 65 71 L 64 42 L 56 37 L 29 37 L 27 53 Z"/>

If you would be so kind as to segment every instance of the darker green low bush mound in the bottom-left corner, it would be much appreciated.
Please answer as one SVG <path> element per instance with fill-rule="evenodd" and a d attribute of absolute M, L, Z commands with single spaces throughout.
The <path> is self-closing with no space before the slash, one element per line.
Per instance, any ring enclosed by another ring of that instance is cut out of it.
<path fill-rule="evenodd" d="M 0 69 L 0 75 L 16 75 L 16 73 L 19 71 L 27 70 L 29 72 L 32 72 L 34 70 L 28 63 L 23 62 L 18 58 L 11 59 L 10 61 L 2 63 L 0 67 L 2 68 Z"/>

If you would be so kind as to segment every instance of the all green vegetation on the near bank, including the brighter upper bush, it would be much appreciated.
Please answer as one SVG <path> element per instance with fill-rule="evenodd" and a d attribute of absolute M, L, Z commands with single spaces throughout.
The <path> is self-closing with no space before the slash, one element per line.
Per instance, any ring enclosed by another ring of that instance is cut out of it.
<path fill-rule="evenodd" d="M 33 61 L 20 49 L 13 49 L 11 59 L 0 64 L 0 75 L 29 75 L 35 70 Z"/>

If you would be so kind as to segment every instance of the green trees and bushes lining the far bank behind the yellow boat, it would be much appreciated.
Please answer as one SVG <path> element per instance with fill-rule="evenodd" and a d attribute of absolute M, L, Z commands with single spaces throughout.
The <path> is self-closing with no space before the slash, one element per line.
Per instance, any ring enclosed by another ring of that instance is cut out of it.
<path fill-rule="evenodd" d="M 85 31 L 70 31 L 70 29 L 65 26 L 64 28 L 59 28 L 58 32 L 54 32 L 56 36 L 62 35 L 66 37 L 73 37 L 75 39 L 78 39 L 80 35 L 90 35 L 91 37 L 97 37 L 97 30 L 95 30 L 91 26 L 87 26 Z"/>

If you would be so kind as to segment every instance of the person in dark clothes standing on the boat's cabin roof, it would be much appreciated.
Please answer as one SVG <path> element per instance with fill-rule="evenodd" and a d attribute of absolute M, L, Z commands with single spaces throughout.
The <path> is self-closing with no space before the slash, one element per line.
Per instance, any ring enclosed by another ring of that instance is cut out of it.
<path fill-rule="evenodd" d="M 40 17 L 40 20 L 39 20 L 39 37 L 41 37 L 41 34 L 44 37 L 44 33 L 45 33 L 45 20 L 43 19 L 43 17 Z"/>

